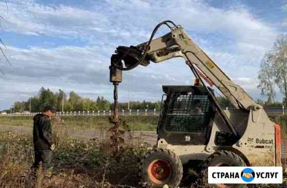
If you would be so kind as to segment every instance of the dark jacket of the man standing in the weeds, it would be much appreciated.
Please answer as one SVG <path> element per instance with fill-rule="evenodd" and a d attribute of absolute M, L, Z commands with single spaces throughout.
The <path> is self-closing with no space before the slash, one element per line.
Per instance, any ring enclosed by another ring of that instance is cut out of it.
<path fill-rule="evenodd" d="M 39 113 L 34 116 L 33 144 L 35 151 L 50 150 L 53 144 L 51 120 L 48 115 Z"/>

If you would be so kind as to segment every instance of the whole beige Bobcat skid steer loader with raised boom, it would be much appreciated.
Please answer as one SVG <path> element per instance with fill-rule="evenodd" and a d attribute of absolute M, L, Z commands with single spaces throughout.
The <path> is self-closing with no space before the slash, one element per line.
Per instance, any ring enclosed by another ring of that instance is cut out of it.
<path fill-rule="evenodd" d="M 153 39 L 162 25 L 171 31 Z M 122 70 L 174 57 L 182 57 L 198 80 L 193 86 L 162 86 L 158 140 L 140 163 L 142 181 L 176 187 L 186 166 L 200 172 L 211 166 L 281 166 L 279 125 L 270 121 L 263 107 L 224 74 L 181 26 L 163 21 L 149 41 L 118 46 L 115 52 L 110 66 L 110 81 L 115 86 L 121 82 Z M 234 109 L 219 106 L 213 86 Z"/>

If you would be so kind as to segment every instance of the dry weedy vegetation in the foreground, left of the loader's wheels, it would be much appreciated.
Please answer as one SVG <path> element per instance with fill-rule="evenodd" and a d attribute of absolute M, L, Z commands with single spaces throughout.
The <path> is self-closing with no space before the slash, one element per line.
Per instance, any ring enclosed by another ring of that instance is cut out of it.
<path fill-rule="evenodd" d="M 57 132 L 61 132 L 57 130 Z M 0 187 L 115 187 L 137 186 L 138 166 L 147 146 L 127 144 L 120 157 L 108 143 L 57 135 L 52 176 L 32 179 L 32 138 L 19 132 L 0 132 Z M 40 181 L 41 180 L 41 181 Z"/>

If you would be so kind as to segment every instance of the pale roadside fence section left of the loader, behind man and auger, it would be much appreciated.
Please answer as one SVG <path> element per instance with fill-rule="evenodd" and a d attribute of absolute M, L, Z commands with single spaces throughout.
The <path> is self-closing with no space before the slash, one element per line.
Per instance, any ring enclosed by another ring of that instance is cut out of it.
<path fill-rule="evenodd" d="M 8 113 L 8 114 L 0 114 L 0 116 L 34 116 L 40 112 L 32 112 L 32 113 Z M 57 116 L 84 116 L 84 115 L 112 115 L 114 112 L 111 110 L 98 110 L 98 111 L 64 111 L 64 112 L 56 112 Z M 159 110 L 120 110 L 119 115 L 158 115 Z"/>

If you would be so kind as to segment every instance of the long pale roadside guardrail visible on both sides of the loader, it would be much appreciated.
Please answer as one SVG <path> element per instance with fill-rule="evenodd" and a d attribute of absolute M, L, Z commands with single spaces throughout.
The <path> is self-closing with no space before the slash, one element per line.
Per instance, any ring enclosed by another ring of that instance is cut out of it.
<path fill-rule="evenodd" d="M 228 108 L 226 108 L 228 109 Z M 286 110 L 285 110 L 286 109 Z M 287 114 L 287 108 L 282 107 L 264 107 L 264 110 L 267 114 Z M 40 112 L 31 112 L 31 113 L 8 113 L 0 114 L 0 116 L 34 116 Z M 98 110 L 98 111 L 64 111 L 56 112 L 56 116 L 76 116 L 76 115 L 112 115 L 112 110 Z M 120 115 L 159 115 L 159 110 L 156 109 L 146 109 L 146 110 L 120 110 Z"/>

